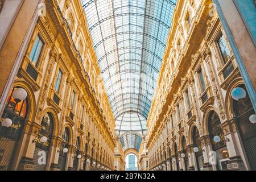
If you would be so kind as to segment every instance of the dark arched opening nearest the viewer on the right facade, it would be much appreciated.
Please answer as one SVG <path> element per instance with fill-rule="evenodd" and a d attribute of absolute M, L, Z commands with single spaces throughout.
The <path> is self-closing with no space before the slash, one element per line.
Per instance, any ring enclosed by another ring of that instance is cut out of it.
<path fill-rule="evenodd" d="M 241 84 L 238 87 L 245 89 L 245 85 Z M 250 115 L 255 114 L 253 105 L 251 104 L 248 94 L 241 101 L 232 99 L 233 115 L 236 118 L 236 123 L 240 131 L 243 147 L 250 165 L 251 170 L 256 171 L 256 124 L 251 123 Z"/>

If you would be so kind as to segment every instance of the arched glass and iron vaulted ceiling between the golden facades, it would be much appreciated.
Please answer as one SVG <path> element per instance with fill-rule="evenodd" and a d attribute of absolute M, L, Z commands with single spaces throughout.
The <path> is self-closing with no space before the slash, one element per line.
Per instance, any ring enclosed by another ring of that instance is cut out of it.
<path fill-rule="evenodd" d="M 176 0 L 82 0 L 117 135 L 145 134 Z"/>

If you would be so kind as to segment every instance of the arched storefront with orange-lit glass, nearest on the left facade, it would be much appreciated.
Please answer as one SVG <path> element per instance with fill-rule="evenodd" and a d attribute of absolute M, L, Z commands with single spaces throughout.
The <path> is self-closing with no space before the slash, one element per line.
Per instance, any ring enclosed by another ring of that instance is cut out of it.
<path fill-rule="evenodd" d="M 27 92 L 13 88 L 7 99 L 0 125 L 0 171 L 10 170 L 27 117 Z"/>

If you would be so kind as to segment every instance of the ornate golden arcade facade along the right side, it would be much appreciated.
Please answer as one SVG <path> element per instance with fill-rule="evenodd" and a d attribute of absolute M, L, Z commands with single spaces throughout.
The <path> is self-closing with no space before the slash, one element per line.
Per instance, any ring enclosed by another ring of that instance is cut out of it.
<path fill-rule="evenodd" d="M 151 170 L 255 170 L 255 110 L 232 98 L 245 83 L 213 7 L 177 1 L 147 120 Z"/>

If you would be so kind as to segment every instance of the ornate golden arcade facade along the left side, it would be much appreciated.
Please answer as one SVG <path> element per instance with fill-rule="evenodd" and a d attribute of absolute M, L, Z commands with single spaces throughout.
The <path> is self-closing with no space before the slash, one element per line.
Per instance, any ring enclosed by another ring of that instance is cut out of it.
<path fill-rule="evenodd" d="M 115 123 L 81 1 L 44 3 L 5 98 L 1 170 L 113 169 Z"/>

